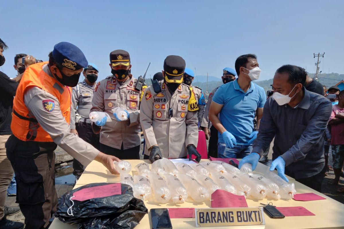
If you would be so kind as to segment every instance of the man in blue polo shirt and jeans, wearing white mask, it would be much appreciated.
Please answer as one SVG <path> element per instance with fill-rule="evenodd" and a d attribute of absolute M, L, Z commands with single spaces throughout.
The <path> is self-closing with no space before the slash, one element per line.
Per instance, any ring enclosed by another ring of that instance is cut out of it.
<path fill-rule="evenodd" d="M 219 132 L 219 158 L 243 158 L 251 153 L 258 133 L 253 129 L 255 112 L 259 129 L 266 101 L 264 89 L 252 83 L 259 78 L 261 71 L 256 55 L 239 56 L 235 70 L 238 79 L 221 85 L 213 96 L 209 111 L 209 119 Z"/>

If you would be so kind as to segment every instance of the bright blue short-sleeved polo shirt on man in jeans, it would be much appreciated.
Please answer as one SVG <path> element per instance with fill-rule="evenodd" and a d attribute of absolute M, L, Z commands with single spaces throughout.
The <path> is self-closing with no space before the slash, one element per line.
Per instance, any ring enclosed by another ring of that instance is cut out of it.
<path fill-rule="evenodd" d="M 253 119 L 257 108 L 263 108 L 266 94 L 262 87 L 251 82 L 245 93 L 237 80 L 221 85 L 213 96 L 213 101 L 223 105 L 220 121 L 225 129 L 233 134 L 238 145 L 249 145 L 249 135 L 253 131 Z M 218 142 L 224 142 L 220 132 Z"/>

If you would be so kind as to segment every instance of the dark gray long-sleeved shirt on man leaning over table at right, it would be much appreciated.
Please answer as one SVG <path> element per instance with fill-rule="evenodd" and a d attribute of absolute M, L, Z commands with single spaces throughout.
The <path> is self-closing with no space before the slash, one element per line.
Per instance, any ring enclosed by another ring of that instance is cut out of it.
<path fill-rule="evenodd" d="M 273 138 L 272 159 L 281 156 L 285 173 L 295 179 L 318 174 L 325 164 L 323 134 L 331 116 L 332 104 L 324 96 L 303 88 L 298 106 L 279 106 L 272 96 L 266 101 L 252 152 L 260 155 Z"/>

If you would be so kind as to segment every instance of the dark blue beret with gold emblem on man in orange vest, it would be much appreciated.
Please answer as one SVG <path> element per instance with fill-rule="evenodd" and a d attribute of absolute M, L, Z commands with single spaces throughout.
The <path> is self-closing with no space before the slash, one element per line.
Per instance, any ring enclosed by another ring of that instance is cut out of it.
<path fill-rule="evenodd" d="M 85 68 L 88 64 L 84 53 L 69 42 L 60 42 L 54 46 L 53 57 L 59 64 L 68 69 Z"/>

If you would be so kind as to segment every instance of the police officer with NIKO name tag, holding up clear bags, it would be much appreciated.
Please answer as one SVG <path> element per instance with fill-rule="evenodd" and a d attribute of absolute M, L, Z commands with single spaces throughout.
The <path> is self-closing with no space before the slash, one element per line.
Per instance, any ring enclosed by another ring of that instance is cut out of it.
<path fill-rule="evenodd" d="M 106 112 L 111 122 L 106 122 L 104 117 L 102 121 L 93 123 L 92 128 L 94 133 L 100 133 L 100 151 L 120 159 L 140 159 L 141 91 L 135 89 L 137 79 L 129 73 L 129 53 L 120 49 L 112 51 L 109 65 L 112 75 L 97 83 L 91 112 Z M 122 107 L 128 119 L 121 121 L 112 111 L 115 107 Z"/>

